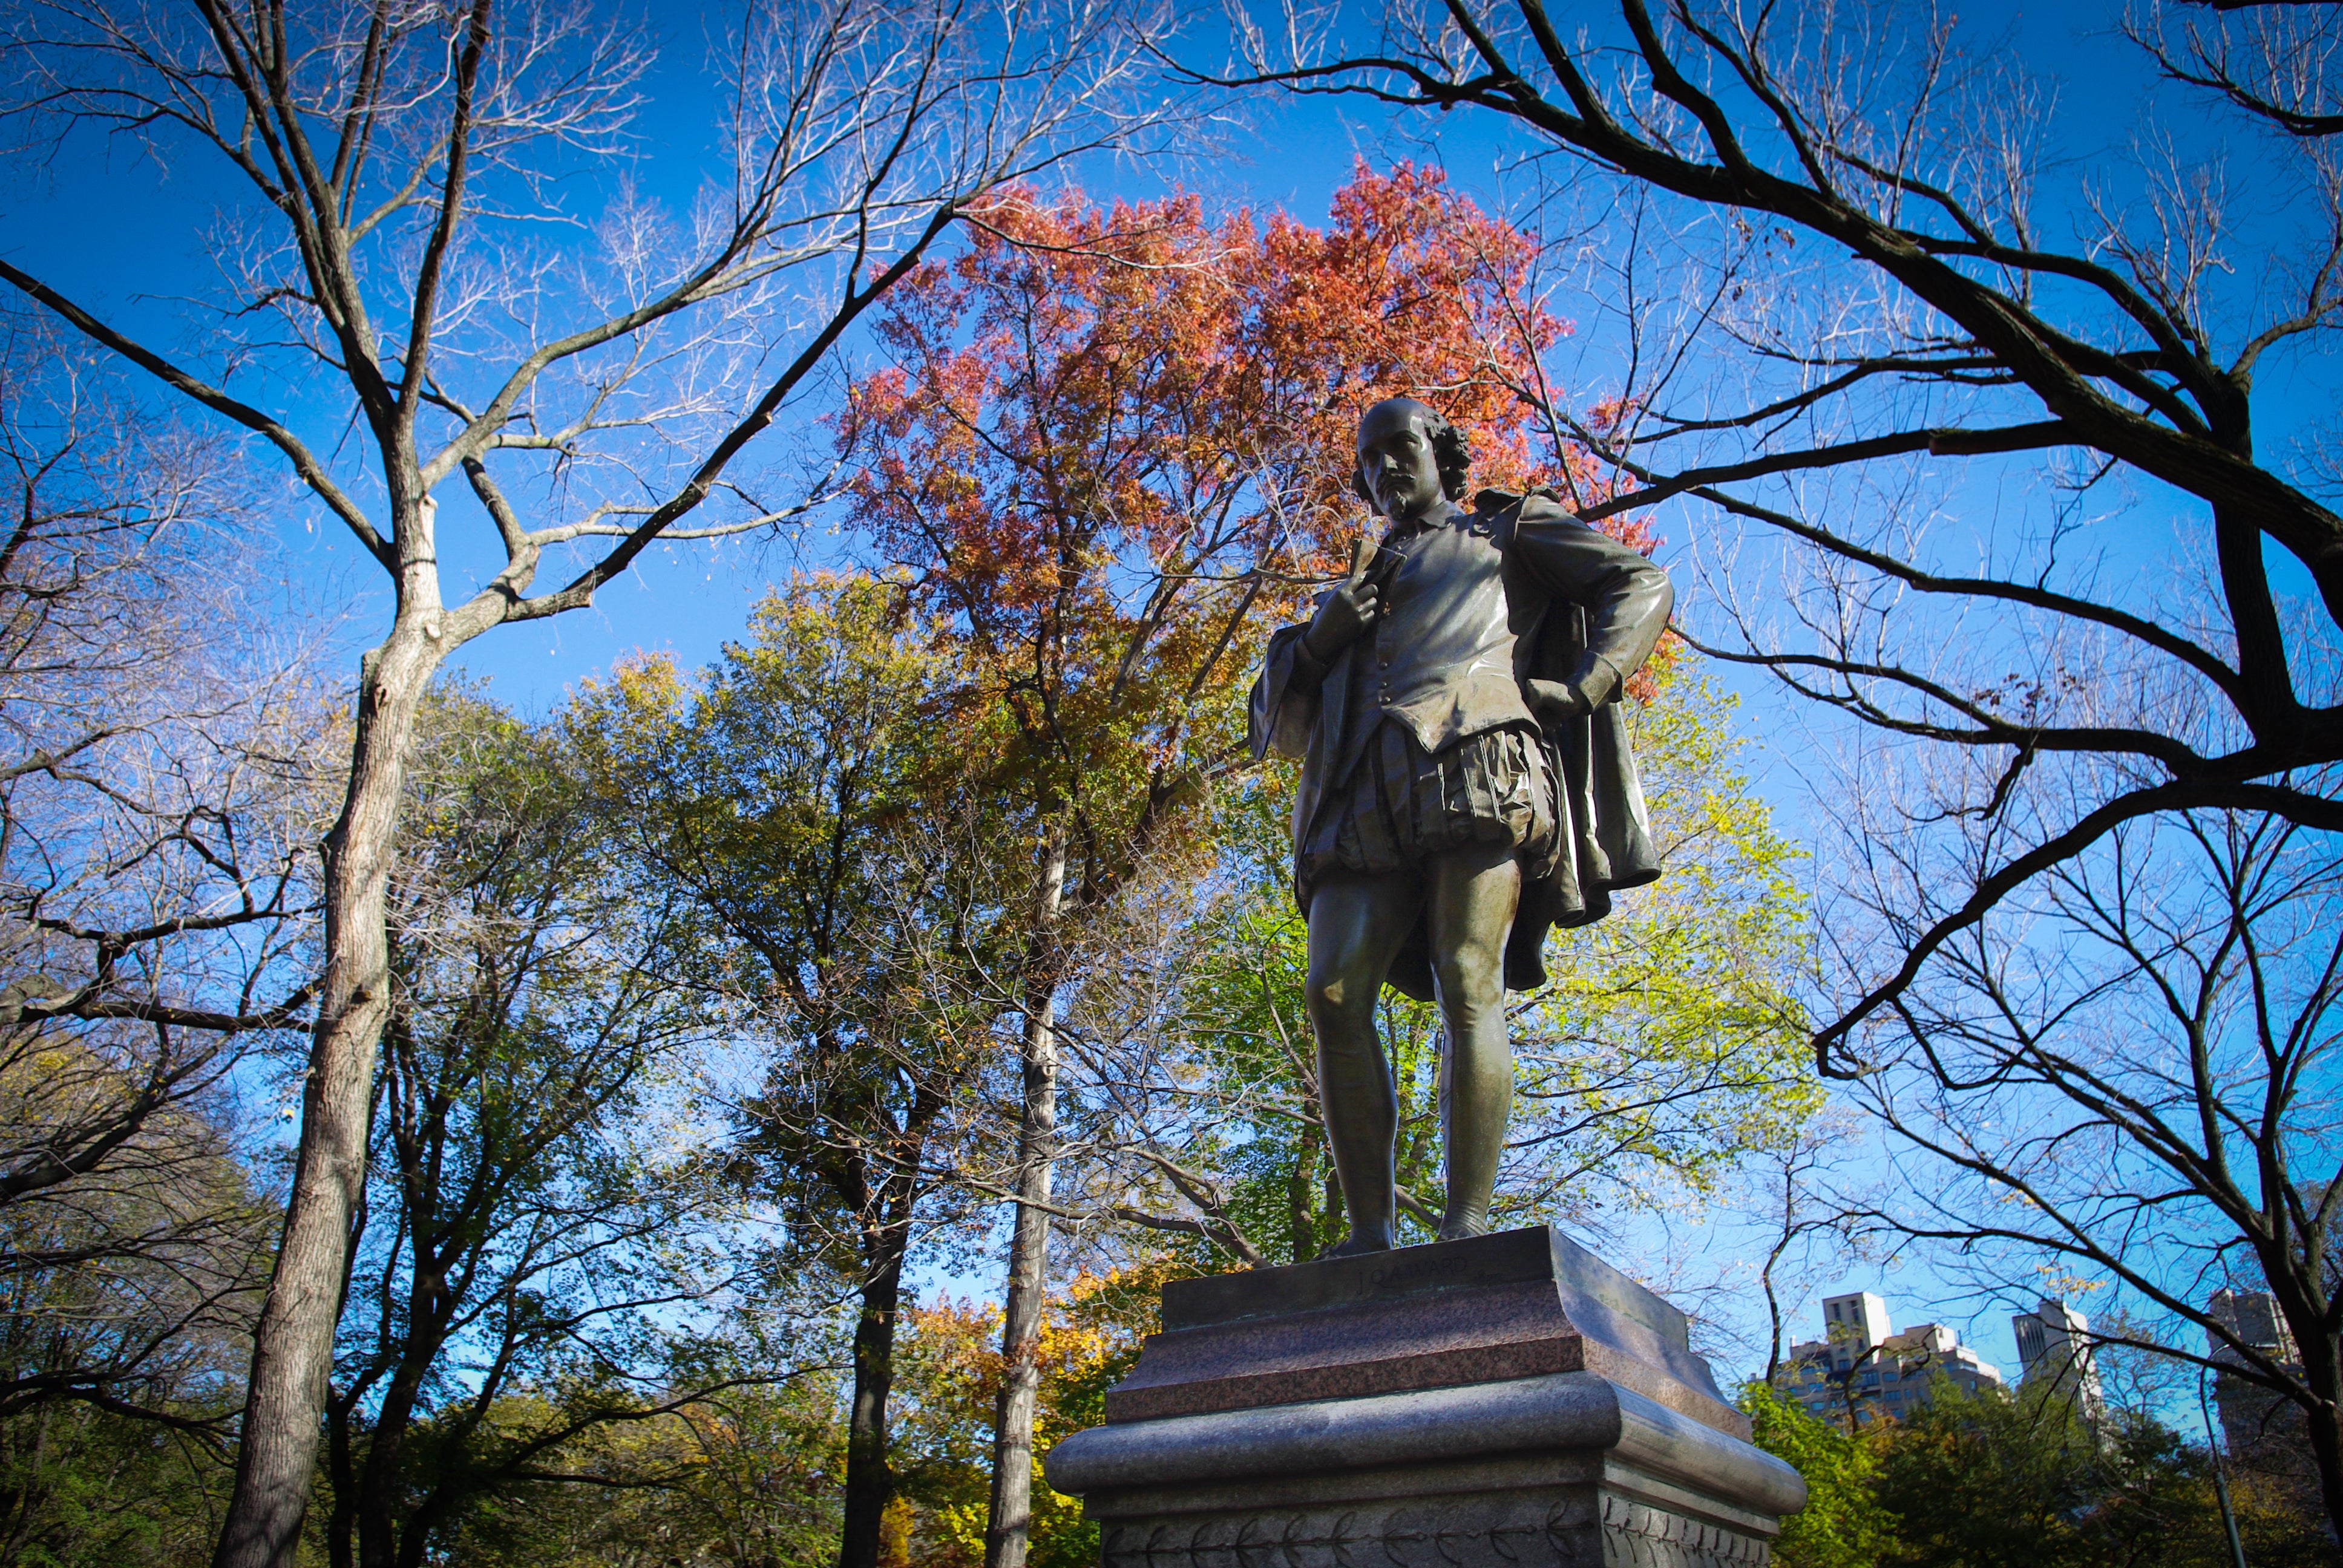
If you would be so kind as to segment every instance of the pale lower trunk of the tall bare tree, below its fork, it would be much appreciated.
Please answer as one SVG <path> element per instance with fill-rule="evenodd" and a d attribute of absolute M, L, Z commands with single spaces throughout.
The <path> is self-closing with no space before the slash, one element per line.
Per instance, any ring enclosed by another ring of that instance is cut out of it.
<path fill-rule="evenodd" d="M 349 1226 L 366 1188 L 375 1043 L 389 1013 L 384 893 L 415 710 L 443 659 L 438 607 L 401 614 L 358 663 L 342 818 L 326 834 L 326 982 L 302 1085 L 284 1245 L 253 1329 L 237 1486 L 213 1568 L 293 1568 L 323 1427 Z"/>

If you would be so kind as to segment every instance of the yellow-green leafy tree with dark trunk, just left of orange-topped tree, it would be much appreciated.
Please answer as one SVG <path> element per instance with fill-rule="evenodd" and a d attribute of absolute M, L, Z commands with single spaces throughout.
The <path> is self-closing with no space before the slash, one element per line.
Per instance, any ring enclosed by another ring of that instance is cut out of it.
<path fill-rule="evenodd" d="M 647 661 L 565 720 L 745 1005 L 761 1064 L 733 1174 L 780 1207 L 787 1263 L 855 1296 L 848 1568 L 879 1559 L 904 1259 L 965 1207 L 954 1174 L 998 1059 L 979 975 L 1015 926 L 956 673 L 904 584 L 820 577 L 764 600 L 696 684 Z"/>

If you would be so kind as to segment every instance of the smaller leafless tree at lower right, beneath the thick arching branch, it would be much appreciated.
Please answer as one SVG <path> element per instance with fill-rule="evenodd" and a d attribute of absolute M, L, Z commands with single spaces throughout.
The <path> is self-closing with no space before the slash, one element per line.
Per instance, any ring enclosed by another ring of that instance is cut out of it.
<path fill-rule="evenodd" d="M 2003 816 L 2038 820 L 2029 797 Z M 1879 823 L 1851 879 L 1891 930 L 1912 921 L 1914 848 Z M 1945 1245 L 1940 1273 L 2017 1308 L 2090 1294 L 2097 1345 L 2221 1366 L 2315 1434 L 2343 1322 L 2338 886 L 2336 839 L 2268 813 L 2127 823 L 2062 860 L 1870 1036 L 1853 1092 L 1903 1158 L 1839 1212 Z M 2270 1291 L 2313 1338 L 2249 1345 L 2214 1291 Z"/>

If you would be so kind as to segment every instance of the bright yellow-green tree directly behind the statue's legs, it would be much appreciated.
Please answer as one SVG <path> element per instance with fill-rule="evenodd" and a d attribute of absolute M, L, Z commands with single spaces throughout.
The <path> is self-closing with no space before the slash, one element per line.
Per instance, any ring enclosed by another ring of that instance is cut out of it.
<path fill-rule="evenodd" d="M 1776 1148 L 1821 1106 L 1795 984 L 1806 963 L 1797 851 L 1736 766 L 1731 701 L 1689 656 L 1654 673 L 1638 757 L 1668 874 L 1598 926 L 1553 938 L 1553 982 L 1514 1001 L 1521 1109 L 1500 1177 L 1509 1223 L 1703 1202 L 1724 1172 Z M 1221 902 L 1157 956 L 1162 998 L 1113 1024 L 1134 1191 L 1186 1209 L 1244 1261 L 1314 1256 L 1343 1233 L 1324 1153 L 1305 926 L 1286 881 L 1286 790 L 1232 790 Z M 1399 1085 L 1403 1226 L 1432 1238 L 1439 1191 L 1439 1015 L 1385 994 Z M 1153 1174 L 1150 1174 L 1153 1167 Z"/>

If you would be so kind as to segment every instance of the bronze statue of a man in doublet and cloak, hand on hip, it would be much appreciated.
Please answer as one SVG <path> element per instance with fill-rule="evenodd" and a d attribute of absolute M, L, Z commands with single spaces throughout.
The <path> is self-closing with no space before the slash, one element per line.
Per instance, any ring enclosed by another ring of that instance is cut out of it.
<path fill-rule="evenodd" d="M 1675 591 L 1551 495 L 1483 490 L 1464 436 L 1415 398 L 1359 422 L 1378 546 L 1305 626 L 1270 638 L 1254 755 L 1303 759 L 1293 891 L 1310 1027 L 1350 1209 L 1328 1256 L 1392 1247 L 1399 1095 L 1375 1034 L 1389 982 L 1446 1024 L 1441 1240 L 1488 1230 L 1514 1109 L 1504 991 L 1544 984 L 1549 926 L 1659 877 L 1619 710 Z"/>

